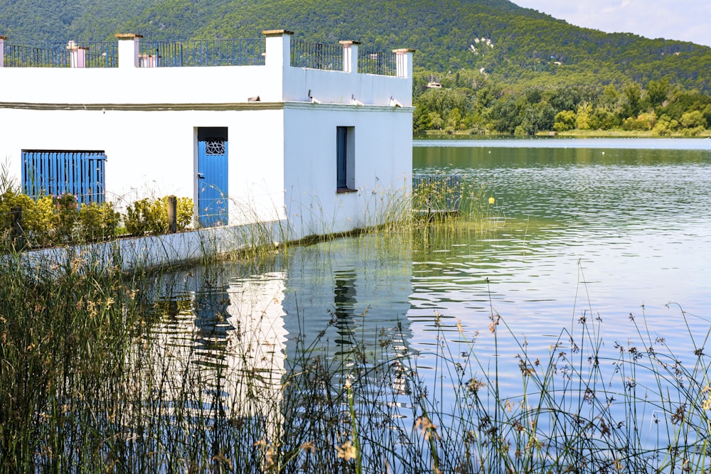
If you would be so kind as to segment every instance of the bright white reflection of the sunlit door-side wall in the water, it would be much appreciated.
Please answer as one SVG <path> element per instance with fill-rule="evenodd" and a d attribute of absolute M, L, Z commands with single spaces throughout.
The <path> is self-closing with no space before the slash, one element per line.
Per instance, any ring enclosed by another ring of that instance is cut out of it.
<path fill-rule="evenodd" d="M 287 339 L 284 273 L 209 284 L 199 269 L 191 274 L 188 279 L 202 285 L 198 291 L 184 291 L 184 281 L 163 283 L 171 297 L 159 301 L 161 320 L 137 348 L 137 364 L 145 352 L 151 360 L 142 367 L 141 392 L 156 394 L 146 388 L 161 387 L 168 406 L 230 419 L 258 416 L 274 429 L 281 423 L 274 404 L 281 397 Z"/>

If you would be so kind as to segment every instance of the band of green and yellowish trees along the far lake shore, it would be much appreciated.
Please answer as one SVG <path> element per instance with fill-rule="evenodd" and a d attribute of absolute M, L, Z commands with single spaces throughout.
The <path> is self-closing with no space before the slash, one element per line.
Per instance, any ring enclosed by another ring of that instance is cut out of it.
<path fill-rule="evenodd" d="M 711 126 L 711 95 L 685 90 L 668 79 L 644 85 L 510 85 L 478 71 L 419 71 L 413 93 L 415 133 L 624 131 L 699 136 Z"/>

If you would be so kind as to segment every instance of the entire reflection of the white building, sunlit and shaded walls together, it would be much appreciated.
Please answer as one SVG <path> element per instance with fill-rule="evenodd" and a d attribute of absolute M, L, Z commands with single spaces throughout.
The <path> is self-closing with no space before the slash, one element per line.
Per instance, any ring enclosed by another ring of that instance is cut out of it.
<path fill-rule="evenodd" d="M 399 359 L 412 337 L 411 263 L 401 251 L 388 257 L 368 249 L 369 239 L 289 249 L 288 273 L 230 278 L 226 265 L 160 283 L 172 297 L 137 347 L 137 357 L 151 361 L 141 370 L 141 393 L 179 401 L 169 415 L 182 404 L 215 420 L 256 421 L 267 442 L 279 426 L 306 419 L 309 404 L 342 400 L 346 378 L 355 402 L 371 404 L 358 416 L 378 417 L 407 401 L 408 364 Z M 315 359 L 327 372 L 318 385 L 308 373 Z M 341 402 L 333 403 L 340 412 Z"/>

